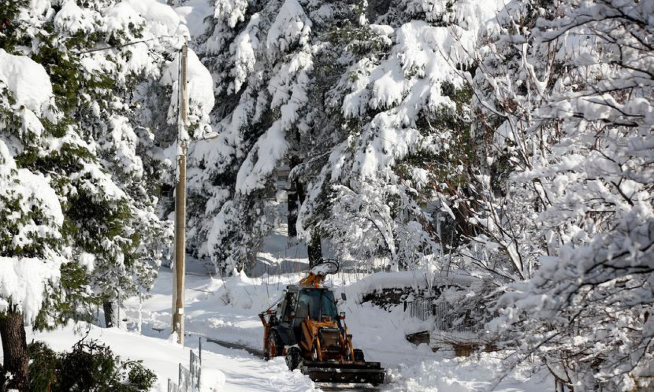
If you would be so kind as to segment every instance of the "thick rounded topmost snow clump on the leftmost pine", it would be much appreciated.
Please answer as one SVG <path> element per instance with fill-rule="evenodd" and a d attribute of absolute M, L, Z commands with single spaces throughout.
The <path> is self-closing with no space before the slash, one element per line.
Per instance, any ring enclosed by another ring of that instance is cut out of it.
<path fill-rule="evenodd" d="M 14 56 L 0 49 L 0 81 L 14 95 L 17 105 L 41 114 L 52 99 L 52 84 L 43 65 L 27 56 Z"/>

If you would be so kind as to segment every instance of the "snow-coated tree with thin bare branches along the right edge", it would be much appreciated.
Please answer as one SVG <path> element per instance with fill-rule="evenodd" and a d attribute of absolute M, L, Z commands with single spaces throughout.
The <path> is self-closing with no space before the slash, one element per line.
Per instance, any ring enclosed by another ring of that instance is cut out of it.
<path fill-rule="evenodd" d="M 477 107 L 497 148 L 478 238 L 491 263 L 530 278 L 502 297 L 496 322 L 515 334 L 516 361 L 540 355 L 575 391 L 647 385 L 653 7 L 513 1 L 479 52 Z"/>

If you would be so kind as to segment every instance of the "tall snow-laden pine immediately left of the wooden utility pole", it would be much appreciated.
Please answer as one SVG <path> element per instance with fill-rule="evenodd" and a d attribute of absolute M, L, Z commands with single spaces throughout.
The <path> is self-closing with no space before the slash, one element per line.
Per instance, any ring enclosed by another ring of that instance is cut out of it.
<path fill-rule="evenodd" d="M 94 255 L 92 283 L 111 316 L 118 295 L 152 286 L 170 243 L 171 225 L 160 219 L 157 204 L 162 179 L 174 178 L 162 148 L 176 129 L 169 125 L 177 122 L 169 114 L 177 107 L 176 101 L 170 105 L 177 88 L 173 57 L 188 30 L 172 8 L 156 1 L 44 3 L 24 8 L 24 15 L 29 18 L 17 24 L 22 27 L 14 40 L 37 42 L 23 52 L 46 66 L 68 126 L 108 174 L 98 180 L 95 169 L 85 168 L 71 177 L 95 195 L 76 200 L 89 208 L 71 209 L 69 217 L 76 227 L 74 253 Z M 210 109 L 194 105 L 192 96 L 191 129 L 204 126 Z"/>

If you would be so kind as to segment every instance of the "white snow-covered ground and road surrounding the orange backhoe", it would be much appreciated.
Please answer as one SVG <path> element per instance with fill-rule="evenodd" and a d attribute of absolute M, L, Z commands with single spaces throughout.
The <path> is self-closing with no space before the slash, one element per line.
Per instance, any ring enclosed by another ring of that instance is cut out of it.
<path fill-rule="evenodd" d="M 305 259 L 299 249 L 286 252 L 292 257 L 279 257 L 283 233 L 266 242 L 261 261 L 268 268 L 281 265 L 297 268 Z M 277 248 L 275 248 L 277 247 Z M 101 329 L 91 326 L 89 338 L 109 344 L 116 353 L 131 359 L 143 359 L 159 377 L 155 391 L 166 391 L 167 378 L 177 378 L 177 364 L 188 363 L 188 348 L 198 348 L 198 335 L 261 348 L 263 327 L 257 314 L 273 303 L 286 284 L 297 282 L 303 274 L 263 274 L 249 278 L 244 274 L 222 279 L 207 276 L 206 268 L 190 259 L 186 275 L 186 348 L 171 342 L 172 274 L 162 268 L 152 297 L 139 306 L 137 298 L 124 302 L 121 318 L 127 319 L 121 329 Z M 347 313 L 347 323 L 353 333 L 354 345 L 362 348 L 366 359 L 380 361 L 387 368 L 387 384 L 370 390 L 379 391 L 483 391 L 498 374 L 499 355 L 457 358 L 452 352 L 432 352 L 426 344 L 414 346 L 405 333 L 419 331 L 422 321 L 405 317 L 401 308 L 387 312 L 369 303 L 360 304 L 362 291 L 371 285 L 388 281 L 388 274 L 378 273 L 368 278 L 354 274 L 330 276 L 326 285 L 345 291 L 347 301 L 341 310 Z M 404 279 L 407 277 L 404 276 Z M 358 281 L 359 283 L 355 283 Z M 139 307 L 143 336 L 138 335 Z M 88 326 L 73 326 L 48 333 L 33 333 L 28 337 L 45 340 L 56 350 L 69 349 Z M 203 341 L 203 374 L 212 374 L 221 391 L 317 391 L 332 385 L 314 384 L 298 370 L 289 372 L 281 358 L 264 361 L 245 350 L 224 348 Z M 496 390 L 506 392 L 536 392 L 551 389 L 553 382 L 543 376 L 528 378 L 526 369 L 509 375 Z M 366 388 L 364 388 L 366 389 Z"/>

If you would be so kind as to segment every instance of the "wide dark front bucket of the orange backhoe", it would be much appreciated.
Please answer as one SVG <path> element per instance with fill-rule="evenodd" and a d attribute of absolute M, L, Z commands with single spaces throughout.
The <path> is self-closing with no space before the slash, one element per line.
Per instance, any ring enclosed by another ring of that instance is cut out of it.
<path fill-rule="evenodd" d="M 384 369 L 379 362 L 305 362 L 301 368 L 314 382 L 383 384 Z"/>

